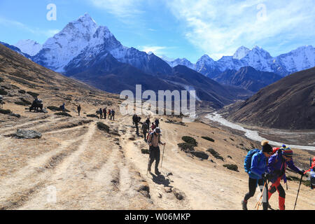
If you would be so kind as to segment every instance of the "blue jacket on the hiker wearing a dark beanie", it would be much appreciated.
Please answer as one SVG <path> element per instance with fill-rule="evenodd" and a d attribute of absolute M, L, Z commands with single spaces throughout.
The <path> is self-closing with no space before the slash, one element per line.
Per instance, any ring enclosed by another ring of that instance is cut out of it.
<path fill-rule="evenodd" d="M 259 180 L 261 179 L 261 175 L 265 174 L 267 171 L 267 158 L 264 153 L 260 151 L 259 153 L 255 153 L 251 158 L 251 171 L 248 172 L 249 177 L 251 179 Z"/>

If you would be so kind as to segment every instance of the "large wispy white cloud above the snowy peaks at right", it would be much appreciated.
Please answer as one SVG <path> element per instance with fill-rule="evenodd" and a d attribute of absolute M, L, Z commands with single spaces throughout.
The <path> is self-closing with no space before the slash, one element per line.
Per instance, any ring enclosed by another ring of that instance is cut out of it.
<path fill-rule="evenodd" d="M 214 59 L 232 55 L 241 45 L 268 45 L 315 34 L 314 1 L 165 0 L 188 40 Z M 262 46 L 263 47 L 263 46 Z"/>

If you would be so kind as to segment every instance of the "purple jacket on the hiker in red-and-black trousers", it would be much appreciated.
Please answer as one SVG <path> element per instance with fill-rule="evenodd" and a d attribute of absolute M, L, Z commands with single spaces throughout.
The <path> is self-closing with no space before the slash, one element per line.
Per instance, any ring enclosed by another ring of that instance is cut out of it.
<path fill-rule="evenodd" d="M 293 160 L 286 162 L 286 160 L 282 157 L 282 151 L 279 150 L 277 153 L 269 157 L 268 165 L 267 165 L 267 172 L 272 174 L 272 178 L 270 181 L 272 183 L 276 182 L 280 176 L 284 183 L 286 183 L 286 167 L 290 167 L 294 172 L 300 172 L 300 169 L 295 167 Z M 282 170 L 282 172 L 281 172 Z"/>

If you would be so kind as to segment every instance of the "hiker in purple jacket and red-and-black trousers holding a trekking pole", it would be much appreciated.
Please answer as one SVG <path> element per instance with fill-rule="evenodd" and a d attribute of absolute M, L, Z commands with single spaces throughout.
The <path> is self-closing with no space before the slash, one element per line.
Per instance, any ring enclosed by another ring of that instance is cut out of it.
<path fill-rule="evenodd" d="M 281 180 L 286 183 L 286 167 L 290 167 L 294 172 L 300 175 L 304 175 L 304 170 L 295 167 L 293 162 L 293 151 L 287 148 L 285 145 L 282 146 L 274 155 L 268 160 L 267 171 L 269 173 L 269 181 L 272 182 L 268 191 L 268 200 L 273 193 L 278 191 L 279 193 L 279 209 L 285 210 L 286 192 L 281 186 Z"/>

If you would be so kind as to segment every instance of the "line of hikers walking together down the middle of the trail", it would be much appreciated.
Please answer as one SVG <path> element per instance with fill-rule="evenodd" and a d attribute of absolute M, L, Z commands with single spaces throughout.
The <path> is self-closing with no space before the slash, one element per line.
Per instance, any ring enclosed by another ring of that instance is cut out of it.
<path fill-rule="evenodd" d="M 141 118 L 135 114 L 132 116 L 132 123 L 136 126 L 136 134 L 139 136 L 139 122 Z M 150 130 L 151 125 L 151 130 Z M 148 160 L 148 172 L 151 172 L 151 167 L 153 162 L 155 161 L 155 169 L 154 173 L 156 175 L 160 175 L 160 171 L 158 169 L 160 163 L 160 145 L 165 146 L 166 143 L 162 143 L 161 141 L 161 129 L 160 129 L 160 120 L 158 118 L 155 119 L 153 123 L 151 123 L 150 118 L 148 117 L 144 123 L 142 123 L 141 127 L 142 133 L 144 134 L 144 141 L 149 146 L 149 160 Z M 148 137 L 147 137 L 148 134 Z"/>

